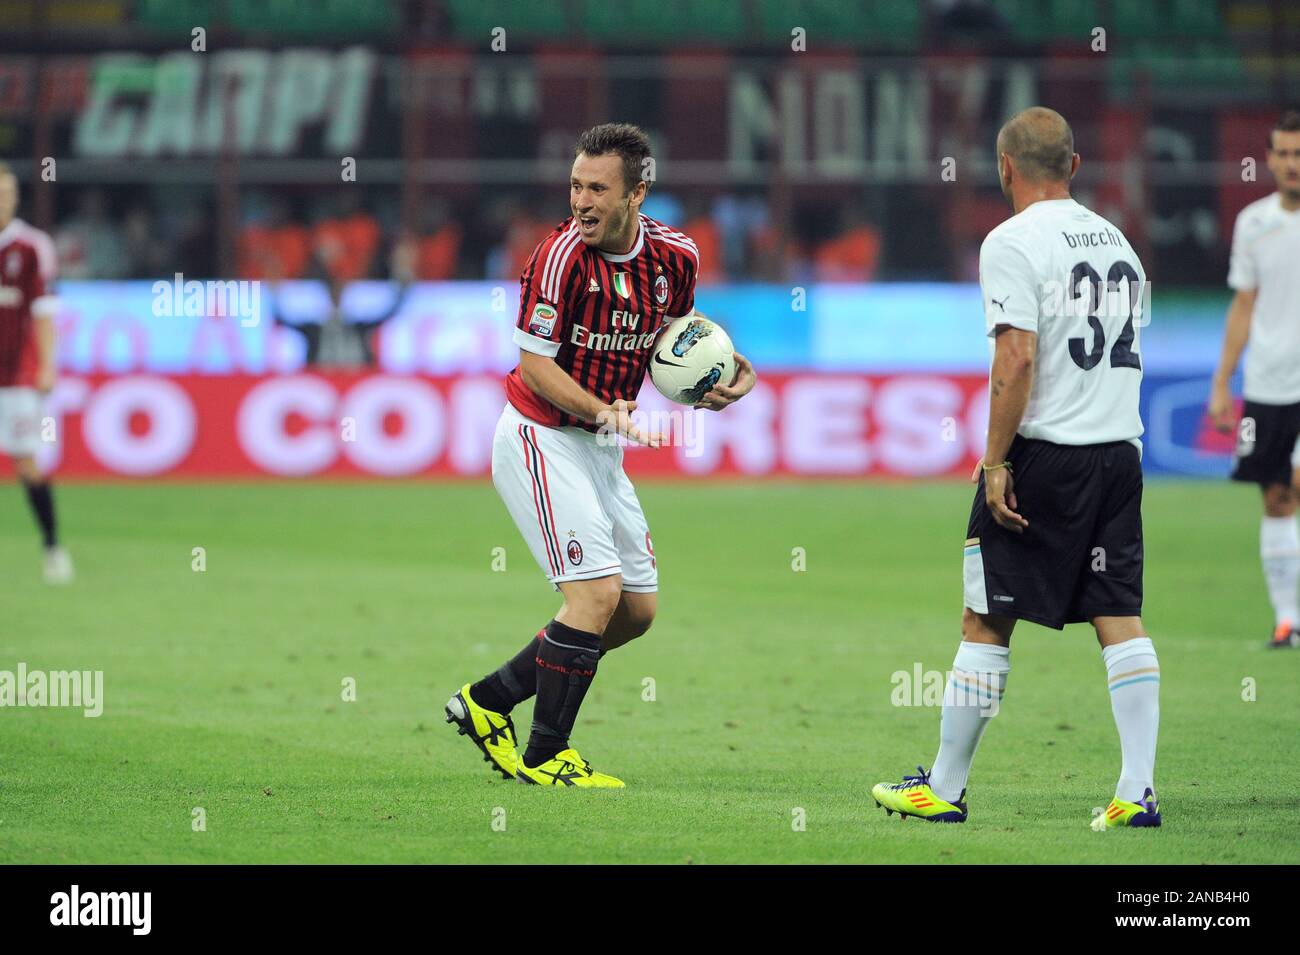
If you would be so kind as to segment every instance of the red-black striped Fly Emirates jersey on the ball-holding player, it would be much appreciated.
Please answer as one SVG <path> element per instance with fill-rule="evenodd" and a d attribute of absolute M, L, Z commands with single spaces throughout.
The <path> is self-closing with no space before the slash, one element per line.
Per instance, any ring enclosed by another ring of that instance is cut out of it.
<path fill-rule="evenodd" d="M 555 359 L 606 404 L 632 400 L 659 329 L 694 308 L 698 273 L 696 243 L 647 216 L 625 255 L 586 246 L 569 217 L 542 239 L 520 275 L 515 343 Z M 506 377 L 506 396 L 538 424 L 597 430 L 529 388 L 517 366 Z"/>

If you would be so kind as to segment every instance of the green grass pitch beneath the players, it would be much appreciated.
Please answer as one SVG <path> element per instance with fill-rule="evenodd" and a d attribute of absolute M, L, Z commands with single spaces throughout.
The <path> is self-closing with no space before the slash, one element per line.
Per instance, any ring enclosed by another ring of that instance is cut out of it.
<path fill-rule="evenodd" d="M 490 485 L 66 483 L 60 590 L 10 487 L 0 669 L 100 669 L 105 704 L 0 709 L 0 861 L 1295 861 L 1300 652 L 1265 648 L 1251 489 L 1148 483 L 1165 826 L 1106 833 L 1119 747 L 1087 626 L 1017 631 L 968 824 L 868 795 L 935 754 L 937 708 L 893 706 L 890 677 L 952 663 L 967 485 L 640 490 L 659 618 L 602 661 L 573 737 L 628 789 L 584 793 L 500 780 L 442 721 L 558 607 Z"/>

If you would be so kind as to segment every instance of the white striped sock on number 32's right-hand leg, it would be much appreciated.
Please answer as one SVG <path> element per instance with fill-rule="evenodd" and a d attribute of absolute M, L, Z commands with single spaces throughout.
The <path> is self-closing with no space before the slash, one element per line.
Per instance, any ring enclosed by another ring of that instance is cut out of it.
<path fill-rule="evenodd" d="M 1110 712 L 1119 730 L 1123 765 L 1115 799 L 1141 802 L 1156 790 L 1156 735 L 1160 730 L 1160 661 L 1149 637 L 1101 650 L 1110 682 Z"/>

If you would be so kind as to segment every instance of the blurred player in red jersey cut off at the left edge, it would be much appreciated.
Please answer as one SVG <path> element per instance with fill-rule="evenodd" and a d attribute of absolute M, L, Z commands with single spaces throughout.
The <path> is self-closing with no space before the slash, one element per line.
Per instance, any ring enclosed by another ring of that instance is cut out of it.
<path fill-rule="evenodd" d="M 21 218 L 18 179 L 0 164 L 0 451 L 27 492 L 46 546 L 49 583 L 73 578 L 58 546 L 55 499 L 36 468 L 40 399 L 55 386 L 55 243 Z"/>

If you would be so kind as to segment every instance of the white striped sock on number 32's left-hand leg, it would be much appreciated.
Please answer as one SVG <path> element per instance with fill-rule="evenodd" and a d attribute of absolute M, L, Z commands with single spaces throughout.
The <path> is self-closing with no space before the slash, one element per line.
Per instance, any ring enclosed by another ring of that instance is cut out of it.
<path fill-rule="evenodd" d="M 930 787 L 940 799 L 954 803 L 962 798 L 975 750 L 984 728 L 997 715 L 1010 672 L 1010 647 L 967 641 L 957 647 L 953 672 L 944 690 L 939 755 L 930 770 Z"/>

